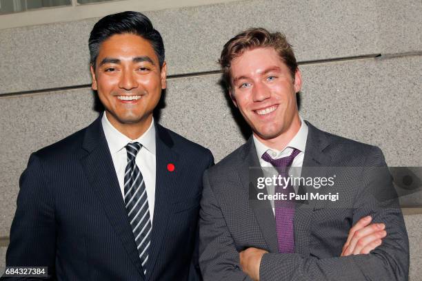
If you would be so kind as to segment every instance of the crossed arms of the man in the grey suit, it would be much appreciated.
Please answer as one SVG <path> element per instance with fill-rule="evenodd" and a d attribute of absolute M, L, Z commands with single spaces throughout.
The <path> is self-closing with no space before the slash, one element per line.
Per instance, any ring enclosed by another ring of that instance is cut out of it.
<path fill-rule="evenodd" d="M 378 155 L 371 162 L 377 159 L 378 163 L 368 164 L 385 165 L 381 151 L 373 153 Z M 256 248 L 239 253 L 208 177 L 205 172 L 200 218 L 199 262 L 204 280 L 408 280 L 408 236 L 396 199 L 380 201 L 374 196 L 376 190 L 362 189 L 356 196 L 354 227 L 340 257 L 320 259 Z M 369 225 L 368 214 L 385 225 Z"/>

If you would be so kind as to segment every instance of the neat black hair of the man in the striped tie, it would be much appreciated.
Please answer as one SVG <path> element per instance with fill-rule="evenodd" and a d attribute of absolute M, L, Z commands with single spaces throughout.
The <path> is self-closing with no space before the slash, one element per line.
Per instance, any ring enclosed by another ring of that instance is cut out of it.
<path fill-rule="evenodd" d="M 90 64 L 95 69 L 95 62 L 99 54 L 99 48 L 114 34 L 136 34 L 149 41 L 159 59 L 160 67 L 164 63 L 164 44 L 160 32 L 154 29 L 152 23 L 145 14 L 140 12 L 119 12 L 109 14 L 95 23 L 92 28 L 88 45 L 90 48 Z"/>

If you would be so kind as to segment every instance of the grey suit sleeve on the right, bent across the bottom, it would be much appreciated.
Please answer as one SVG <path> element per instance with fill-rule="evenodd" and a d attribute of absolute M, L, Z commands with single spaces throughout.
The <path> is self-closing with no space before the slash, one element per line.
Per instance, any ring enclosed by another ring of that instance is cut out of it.
<path fill-rule="evenodd" d="M 353 224 L 368 214 L 373 222 L 385 223 L 387 236 L 381 246 L 368 255 L 325 259 L 265 253 L 260 280 L 408 280 L 408 234 L 381 149 L 375 147 L 368 154 L 361 180 L 363 187 L 354 200 Z"/>

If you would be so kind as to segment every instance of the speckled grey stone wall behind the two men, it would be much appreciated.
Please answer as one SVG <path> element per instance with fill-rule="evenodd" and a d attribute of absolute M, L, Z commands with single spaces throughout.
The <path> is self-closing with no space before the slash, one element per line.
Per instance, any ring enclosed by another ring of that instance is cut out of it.
<path fill-rule="evenodd" d="M 163 35 L 170 74 L 160 122 L 210 148 L 217 161 L 245 141 L 217 59 L 234 34 L 260 26 L 284 32 L 294 46 L 303 118 L 379 145 L 390 166 L 422 166 L 420 0 L 252 0 L 145 14 Z M 97 20 L 0 30 L 0 269 L 30 153 L 98 116 L 88 71 Z M 403 211 L 410 279 L 421 280 L 422 211 Z"/>

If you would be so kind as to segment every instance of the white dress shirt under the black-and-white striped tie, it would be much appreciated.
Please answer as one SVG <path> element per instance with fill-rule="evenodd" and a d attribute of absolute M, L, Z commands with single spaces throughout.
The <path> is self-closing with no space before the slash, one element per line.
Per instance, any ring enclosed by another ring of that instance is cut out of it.
<path fill-rule="evenodd" d="M 128 156 L 125 146 L 128 143 L 141 143 L 142 148 L 135 158 L 135 163 L 141 170 L 143 180 L 145 182 L 146 193 L 148 196 L 148 205 L 150 207 L 150 218 L 154 216 L 154 202 L 155 202 L 155 173 L 156 173 L 156 150 L 155 150 L 155 126 L 154 118 L 150 127 L 136 140 L 132 140 L 121 134 L 111 123 L 108 121 L 106 112 L 101 118 L 104 134 L 112 156 L 114 169 L 116 169 L 117 179 L 119 180 L 121 196 L 124 198 L 124 177 L 126 165 L 128 165 Z"/>

